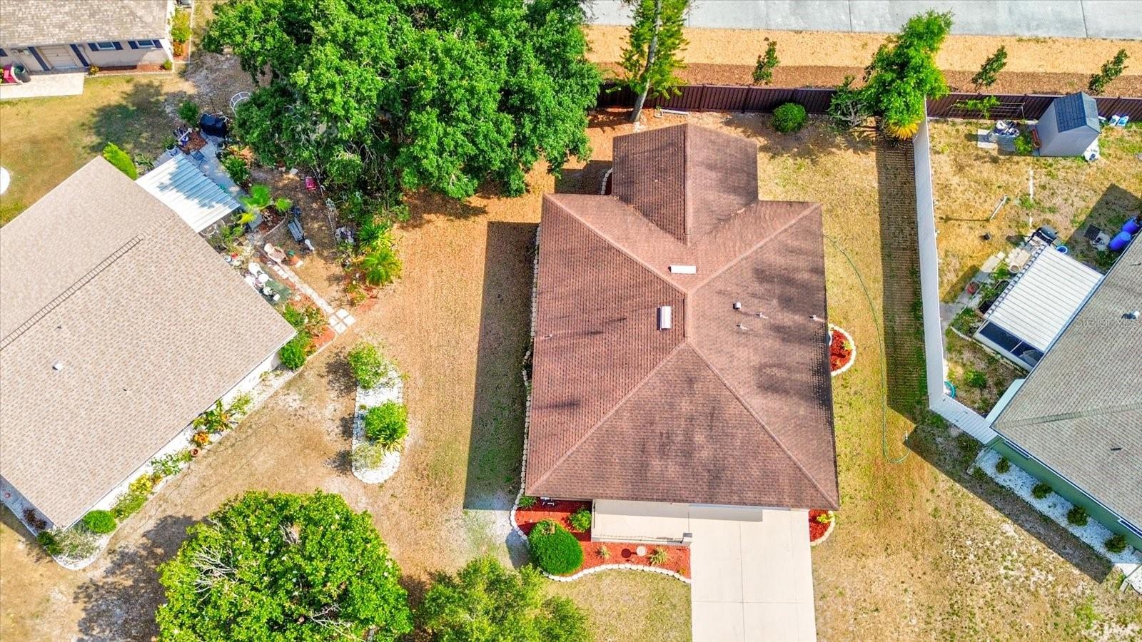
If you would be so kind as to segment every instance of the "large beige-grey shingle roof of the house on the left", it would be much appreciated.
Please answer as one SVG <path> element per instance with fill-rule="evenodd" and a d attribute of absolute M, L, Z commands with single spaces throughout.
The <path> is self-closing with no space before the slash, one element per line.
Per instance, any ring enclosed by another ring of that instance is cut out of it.
<path fill-rule="evenodd" d="M 0 475 L 67 525 L 292 335 L 96 158 L 0 228 Z"/>

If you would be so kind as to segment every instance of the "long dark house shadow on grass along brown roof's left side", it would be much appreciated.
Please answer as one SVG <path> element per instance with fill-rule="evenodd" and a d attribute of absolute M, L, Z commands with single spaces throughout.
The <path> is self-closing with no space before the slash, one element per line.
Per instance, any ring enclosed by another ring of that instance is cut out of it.
<path fill-rule="evenodd" d="M 490 220 L 464 507 L 508 511 L 520 488 L 531 326 L 532 223 Z"/>

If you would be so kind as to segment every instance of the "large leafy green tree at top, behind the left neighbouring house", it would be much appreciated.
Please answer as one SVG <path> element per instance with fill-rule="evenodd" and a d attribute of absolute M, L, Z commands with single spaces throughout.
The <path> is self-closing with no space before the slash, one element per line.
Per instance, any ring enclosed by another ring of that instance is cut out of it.
<path fill-rule="evenodd" d="M 265 160 L 335 188 L 514 195 L 540 158 L 590 154 L 582 17 L 577 0 L 228 0 L 203 47 L 263 81 L 236 128 Z"/>

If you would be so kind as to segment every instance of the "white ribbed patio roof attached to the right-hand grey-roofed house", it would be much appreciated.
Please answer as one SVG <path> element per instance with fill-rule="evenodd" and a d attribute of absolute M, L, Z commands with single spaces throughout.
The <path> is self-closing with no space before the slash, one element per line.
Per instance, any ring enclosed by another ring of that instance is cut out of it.
<path fill-rule="evenodd" d="M 1102 274 L 1052 247 L 1042 248 L 988 310 L 988 321 L 1046 352 Z"/>

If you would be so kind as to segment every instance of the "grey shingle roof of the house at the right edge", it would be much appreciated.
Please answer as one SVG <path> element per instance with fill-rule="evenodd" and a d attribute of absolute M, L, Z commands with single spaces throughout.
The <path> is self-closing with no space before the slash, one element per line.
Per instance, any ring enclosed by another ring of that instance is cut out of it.
<path fill-rule="evenodd" d="M 1027 377 L 995 430 L 1142 525 L 1142 241 Z"/>

